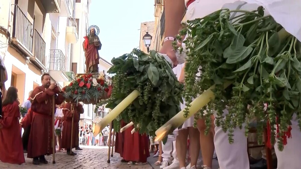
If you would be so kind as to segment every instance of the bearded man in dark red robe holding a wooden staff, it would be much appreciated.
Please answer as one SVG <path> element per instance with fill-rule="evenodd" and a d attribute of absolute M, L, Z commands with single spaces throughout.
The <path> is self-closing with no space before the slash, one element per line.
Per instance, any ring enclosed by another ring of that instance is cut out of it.
<path fill-rule="evenodd" d="M 42 86 L 36 87 L 30 96 L 32 100 L 31 110 L 33 119 L 27 147 L 27 157 L 33 158 L 33 164 L 47 164 L 46 154 L 52 154 L 52 108 L 56 104 L 62 104 L 65 100 L 61 89 L 55 83 L 50 82 L 50 75 L 42 75 Z M 52 103 L 54 97 L 55 103 Z"/>

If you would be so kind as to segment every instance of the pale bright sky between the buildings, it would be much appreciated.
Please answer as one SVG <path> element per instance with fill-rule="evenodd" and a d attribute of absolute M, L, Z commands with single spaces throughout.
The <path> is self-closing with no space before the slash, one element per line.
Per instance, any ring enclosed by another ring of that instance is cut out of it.
<path fill-rule="evenodd" d="M 111 63 L 139 47 L 141 23 L 155 20 L 154 9 L 154 0 L 92 0 L 89 25 L 100 29 L 100 57 Z"/>

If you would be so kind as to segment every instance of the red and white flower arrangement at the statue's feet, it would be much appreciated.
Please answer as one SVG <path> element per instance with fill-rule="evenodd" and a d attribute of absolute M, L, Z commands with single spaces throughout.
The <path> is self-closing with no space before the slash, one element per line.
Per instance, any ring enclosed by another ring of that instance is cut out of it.
<path fill-rule="evenodd" d="M 99 100 L 108 98 L 110 80 L 105 74 L 83 74 L 73 80 L 62 91 L 65 93 L 66 101 L 85 104 L 97 104 Z"/>

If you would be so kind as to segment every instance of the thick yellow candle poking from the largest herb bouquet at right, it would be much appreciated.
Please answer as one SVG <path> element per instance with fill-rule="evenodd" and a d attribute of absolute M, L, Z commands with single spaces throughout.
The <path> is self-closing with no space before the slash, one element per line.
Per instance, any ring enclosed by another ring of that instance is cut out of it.
<path fill-rule="evenodd" d="M 228 87 L 231 83 L 227 82 L 224 84 L 224 87 Z M 188 107 L 188 116 L 184 117 L 184 110 L 181 110 L 178 114 L 176 114 L 172 119 L 170 119 L 168 122 L 166 122 L 162 127 L 160 127 L 155 133 L 156 138 L 155 141 L 162 140 L 170 130 L 173 130 L 180 125 L 182 125 L 188 118 L 193 116 L 195 113 L 197 113 L 202 107 L 204 107 L 206 104 L 211 101 L 211 99 L 214 99 L 214 93 L 211 91 L 211 89 L 214 89 L 215 85 L 211 86 L 209 89 L 207 89 L 203 94 L 201 94 L 199 97 L 195 98 L 194 101 L 191 102 L 191 106 Z"/>

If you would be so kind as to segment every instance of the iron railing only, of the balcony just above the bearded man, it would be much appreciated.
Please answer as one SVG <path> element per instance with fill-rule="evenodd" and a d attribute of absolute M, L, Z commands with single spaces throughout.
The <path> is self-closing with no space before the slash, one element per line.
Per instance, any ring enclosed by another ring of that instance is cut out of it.
<path fill-rule="evenodd" d="M 67 71 L 67 59 L 64 53 L 58 49 L 51 49 L 50 50 L 50 57 L 49 57 L 49 70 L 54 71 Z"/>

